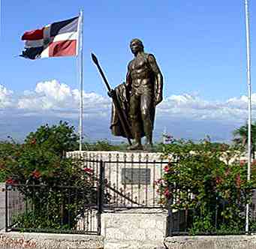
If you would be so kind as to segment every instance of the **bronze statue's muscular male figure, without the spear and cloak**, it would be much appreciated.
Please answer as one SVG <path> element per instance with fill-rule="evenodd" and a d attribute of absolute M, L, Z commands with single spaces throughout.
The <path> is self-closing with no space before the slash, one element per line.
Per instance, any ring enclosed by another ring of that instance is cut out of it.
<path fill-rule="evenodd" d="M 155 106 L 162 99 L 163 77 L 152 54 L 144 52 L 141 40 L 130 43 L 134 59 L 128 64 L 126 87 L 130 90 L 131 129 L 135 139 L 130 149 L 142 149 L 141 137 L 146 136 L 146 149 L 152 148 L 152 130 L 155 119 Z"/>

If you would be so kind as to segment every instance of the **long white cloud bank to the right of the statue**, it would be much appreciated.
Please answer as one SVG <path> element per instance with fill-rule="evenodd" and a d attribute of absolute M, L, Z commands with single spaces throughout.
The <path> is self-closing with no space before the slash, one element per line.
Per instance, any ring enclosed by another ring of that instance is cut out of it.
<path fill-rule="evenodd" d="M 251 102 L 256 111 L 256 94 L 251 95 Z M 221 102 L 204 101 L 197 95 L 171 95 L 159 105 L 158 115 L 196 120 L 244 121 L 248 115 L 247 105 L 246 96 Z"/>

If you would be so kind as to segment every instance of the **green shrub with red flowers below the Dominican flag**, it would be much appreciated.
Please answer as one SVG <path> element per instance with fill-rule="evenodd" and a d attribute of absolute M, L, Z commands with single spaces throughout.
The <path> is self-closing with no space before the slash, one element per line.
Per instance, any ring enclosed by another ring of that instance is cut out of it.
<path fill-rule="evenodd" d="M 18 226 L 59 228 L 62 224 L 71 229 L 85 205 L 96 203 L 92 169 L 83 169 L 80 160 L 65 157 L 65 151 L 77 148 L 77 140 L 74 127 L 60 122 L 39 127 L 23 145 L 10 142 L 5 144 L 8 149 L 0 149 L 2 177 L 33 207 L 17 218 Z"/>

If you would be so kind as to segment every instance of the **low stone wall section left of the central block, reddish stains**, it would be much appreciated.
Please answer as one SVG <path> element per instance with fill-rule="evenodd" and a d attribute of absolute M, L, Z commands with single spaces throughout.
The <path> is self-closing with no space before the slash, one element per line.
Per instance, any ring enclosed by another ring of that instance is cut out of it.
<path fill-rule="evenodd" d="M 0 233 L 0 249 L 103 249 L 102 236 Z"/>

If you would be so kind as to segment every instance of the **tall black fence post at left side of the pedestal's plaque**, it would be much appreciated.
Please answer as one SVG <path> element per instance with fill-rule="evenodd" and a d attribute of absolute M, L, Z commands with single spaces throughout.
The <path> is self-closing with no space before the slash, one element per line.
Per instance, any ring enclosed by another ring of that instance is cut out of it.
<path fill-rule="evenodd" d="M 105 168 L 103 160 L 100 160 L 100 178 L 98 183 L 98 235 L 101 235 L 101 213 L 104 203 L 104 175 Z"/>

